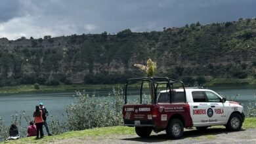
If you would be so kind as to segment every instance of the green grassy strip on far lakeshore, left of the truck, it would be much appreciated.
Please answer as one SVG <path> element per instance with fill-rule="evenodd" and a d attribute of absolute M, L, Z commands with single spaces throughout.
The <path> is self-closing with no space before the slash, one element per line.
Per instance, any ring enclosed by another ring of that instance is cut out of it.
<path fill-rule="evenodd" d="M 34 88 L 34 85 L 20 85 L 20 86 L 4 86 L 0 88 L 0 94 L 16 94 L 22 92 L 58 92 L 68 90 L 98 90 L 102 88 L 117 88 L 123 87 L 123 84 L 72 84 L 59 86 L 45 86 L 41 85 L 39 90 Z"/>

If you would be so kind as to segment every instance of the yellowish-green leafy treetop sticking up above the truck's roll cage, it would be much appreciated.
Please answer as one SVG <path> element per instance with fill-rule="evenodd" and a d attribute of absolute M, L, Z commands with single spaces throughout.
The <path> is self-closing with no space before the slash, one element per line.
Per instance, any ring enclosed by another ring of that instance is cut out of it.
<path fill-rule="evenodd" d="M 135 64 L 134 66 L 144 71 L 147 77 L 153 77 L 154 72 L 156 71 L 156 62 L 152 62 L 151 59 L 146 61 L 146 65 Z"/>

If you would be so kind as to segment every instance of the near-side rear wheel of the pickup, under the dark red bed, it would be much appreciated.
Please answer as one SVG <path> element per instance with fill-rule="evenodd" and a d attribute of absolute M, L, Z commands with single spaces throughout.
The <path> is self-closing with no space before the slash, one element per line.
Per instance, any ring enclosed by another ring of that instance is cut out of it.
<path fill-rule="evenodd" d="M 167 128 L 166 128 L 166 135 L 171 139 L 178 139 L 183 135 L 184 126 L 181 120 L 177 118 L 171 119 Z"/>

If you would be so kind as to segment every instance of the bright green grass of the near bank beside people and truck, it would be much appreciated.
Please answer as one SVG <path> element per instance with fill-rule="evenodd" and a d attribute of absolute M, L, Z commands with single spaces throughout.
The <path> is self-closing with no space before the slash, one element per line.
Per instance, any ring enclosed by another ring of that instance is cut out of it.
<path fill-rule="evenodd" d="M 219 128 L 219 126 L 213 126 L 212 128 Z M 223 127 L 224 128 L 224 127 Z M 256 128 L 256 118 L 245 118 L 243 128 Z M 97 139 L 97 137 L 104 137 L 109 135 L 133 135 L 135 134 L 134 128 L 127 126 L 110 126 L 105 128 L 93 128 L 88 130 L 65 132 L 60 135 L 47 136 L 43 139 L 35 140 L 35 137 L 24 137 L 17 140 L 5 141 L 2 143 L 50 143 L 53 141 L 58 141 L 60 139 Z M 210 137 L 209 135 L 204 135 L 203 137 Z M 192 139 L 197 139 L 198 137 L 193 137 Z"/>

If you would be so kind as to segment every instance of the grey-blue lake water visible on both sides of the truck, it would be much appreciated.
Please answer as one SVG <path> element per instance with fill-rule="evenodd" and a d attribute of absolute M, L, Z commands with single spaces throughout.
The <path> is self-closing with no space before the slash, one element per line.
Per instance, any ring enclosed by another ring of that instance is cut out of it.
<path fill-rule="evenodd" d="M 246 106 L 249 99 L 256 100 L 256 86 L 228 86 L 228 87 L 212 87 L 215 92 L 244 103 Z M 108 96 L 112 89 L 87 91 L 88 94 L 95 93 L 96 96 Z M 17 113 L 22 114 L 26 111 L 27 115 L 32 117 L 35 105 L 43 102 L 51 115 L 56 118 L 63 118 L 66 105 L 74 101 L 75 92 L 46 92 L 46 93 L 28 93 L 28 94 L 1 94 L 0 95 L 0 117 L 5 124 L 11 124 L 12 117 Z"/>

